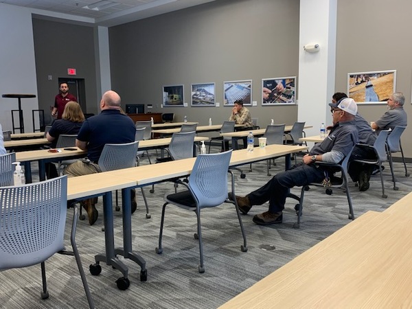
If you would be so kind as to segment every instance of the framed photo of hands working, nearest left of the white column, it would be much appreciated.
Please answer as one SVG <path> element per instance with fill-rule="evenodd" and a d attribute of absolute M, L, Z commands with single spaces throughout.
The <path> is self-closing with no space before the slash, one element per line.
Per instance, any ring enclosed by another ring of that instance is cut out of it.
<path fill-rule="evenodd" d="M 296 104 L 296 76 L 262 79 L 262 105 Z"/>

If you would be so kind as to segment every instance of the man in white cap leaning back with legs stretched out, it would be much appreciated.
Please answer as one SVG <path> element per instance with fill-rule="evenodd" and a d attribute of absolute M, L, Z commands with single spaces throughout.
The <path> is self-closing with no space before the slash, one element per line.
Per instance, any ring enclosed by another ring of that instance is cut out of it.
<path fill-rule="evenodd" d="M 269 209 L 262 214 L 253 216 L 257 225 L 273 225 L 282 223 L 284 205 L 289 189 L 308 185 L 312 182 L 320 183 L 328 175 L 328 168 L 313 164 L 315 161 L 331 163 L 341 162 L 358 143 L 358 132 L 354 121 L 358 111 L 356 102 L 350 98 L 341 100 L 339 104 L 330 104 L 333 113 L 333 127 L 328 137 L 321 143 L 315 144 L 303 162 L 273 176 L 263 187 L 247 196 L 232 196 L 236 198 L 242 214 L 247 214 L 253 205 L 262 205 L 269 202 Z"/>

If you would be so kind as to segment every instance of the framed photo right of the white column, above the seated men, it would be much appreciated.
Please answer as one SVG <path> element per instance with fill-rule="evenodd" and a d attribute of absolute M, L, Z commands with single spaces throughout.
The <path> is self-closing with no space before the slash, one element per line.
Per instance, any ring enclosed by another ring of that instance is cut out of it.
<path fill-rule="evenodd" d="M 386 104 L 396 91 L 396 70 L 347 74 L 347 93 L 358 104 Z"/>

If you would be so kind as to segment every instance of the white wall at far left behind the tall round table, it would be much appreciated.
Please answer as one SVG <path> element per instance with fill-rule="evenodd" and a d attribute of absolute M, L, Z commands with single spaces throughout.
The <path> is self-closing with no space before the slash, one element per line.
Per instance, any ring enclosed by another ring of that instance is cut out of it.
<path fill-rule="evenodd" d="M 0 38 L 0 94 L 24 93 L 37 96 L 31 11 L 0 3 Z M 32 110 L 38 109 L 38 100 L 22 99 L 21 107 L 25 131 L 31 132 Z M 0 123 L 3 130 L 12 130 L 10 111 L 17 108 L 17 99 L 0 98 Z M 17 126 L 17 113 L 14 121 Z"/>

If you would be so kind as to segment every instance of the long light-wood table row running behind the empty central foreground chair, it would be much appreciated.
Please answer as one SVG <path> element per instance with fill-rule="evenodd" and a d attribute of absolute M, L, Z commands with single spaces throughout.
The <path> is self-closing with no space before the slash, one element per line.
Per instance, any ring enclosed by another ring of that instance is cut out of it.
<path fill-rule="evenodd" d="M 232 152 L 229 167 L 248 164 L 256 161 L 271 159 L 284 155 L 286 168 L 290 166 L 290 155 L 294 152 L 306 150 L 306 146 L 271 145 L 266 148 L 255 148 L 253 152 L 247 150 L 236 150 Z M 95 264 L 91 265 L 91 272 L 97 275 L 102 270 L 100 262 L 113 266 L 119 270 L 123 277 L 117 280 L 119 288 L 128 287 L 128 267 L 117 258 L 133 260 L 141 267 L 140 279 L 146 281 L 146 261 L 132 248 L 131 235 L 131 205 L 130 190 L 135 187 L 144 187 L 160 183 L 168 179 L 180 178 L 190 175 L 196 158 L 181 159 L 153 165 L 141 165 L 135 168 L 113 170 L 68 179 L 67 199 L 84 199 L 103 195 L 104 204 L 104 237 L 105 252 L 95 255 Z M 113 232 L 113 205 L 112 190 L 122 190 L 122 216 L 123 216 L 123 247 L 114 247 Z"/>

